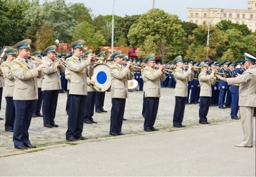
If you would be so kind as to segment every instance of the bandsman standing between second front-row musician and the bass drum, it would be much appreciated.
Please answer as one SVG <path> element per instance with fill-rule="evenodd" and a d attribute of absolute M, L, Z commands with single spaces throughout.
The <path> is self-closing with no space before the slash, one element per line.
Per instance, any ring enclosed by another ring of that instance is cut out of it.
<path fill-rule="evenodd" d="M 89 54 L 92 54 L 92 50 L 87 50 L 84 55 L 87 57 Z M 84 123 L 85 124 L 97 124 L 96 121 L 93 120 L 94 115 L 94 104 L 96 100 L 96 91 L 93 88 L 93 85 L 95 83 L 91 81 L 91 77 L 93 75 L 93 70 L 90 68 L 93 68 L 93 65 L 87 66 L 87 86 L 88 86 L 88 92 L 87 92 L 87 98 L 86 98 L 86 108 L 85 108 L 85 118 Z"/>

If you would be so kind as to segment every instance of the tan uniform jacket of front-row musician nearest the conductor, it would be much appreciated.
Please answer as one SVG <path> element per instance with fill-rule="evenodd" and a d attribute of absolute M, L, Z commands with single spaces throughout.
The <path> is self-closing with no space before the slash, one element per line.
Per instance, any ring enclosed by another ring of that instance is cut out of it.
<path fill-rule="evenodd" d="M 200 96 L 212 97 L 212 85 L 216 83 L 214 75 L 201 72 L 198 79 L 200 83 Z"/>

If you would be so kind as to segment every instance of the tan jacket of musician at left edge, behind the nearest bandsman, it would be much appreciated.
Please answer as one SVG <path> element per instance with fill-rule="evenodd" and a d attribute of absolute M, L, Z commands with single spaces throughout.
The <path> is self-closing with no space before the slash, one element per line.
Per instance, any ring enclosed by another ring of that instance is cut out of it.
<path fill-rule="evenodd" d="M 3 62 L 2 73 L 5 81 L 5 87 L 3 88 L 3 96 L 13 97 L 14 92 L 14 74 L 11 71 L 11 62 L 9 60 Z"/>

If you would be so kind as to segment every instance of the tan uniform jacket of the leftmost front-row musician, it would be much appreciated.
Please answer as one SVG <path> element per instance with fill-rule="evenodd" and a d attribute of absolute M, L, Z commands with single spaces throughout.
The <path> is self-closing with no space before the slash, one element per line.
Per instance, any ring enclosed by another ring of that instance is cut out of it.
<path fill-rule="evenodd" d="M 14 73 L 14 100 L 38 99 L 37 78 L 42 77 L 42 72 L 36 70 L 36 65 L 24 58 L 16 58 L 11 62 L 11 71 Z"/>

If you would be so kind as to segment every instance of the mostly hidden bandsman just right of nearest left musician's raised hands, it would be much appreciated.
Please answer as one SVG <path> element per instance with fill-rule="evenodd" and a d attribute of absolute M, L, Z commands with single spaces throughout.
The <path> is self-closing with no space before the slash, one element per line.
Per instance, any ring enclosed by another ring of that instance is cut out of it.
<path fill-rule="evenodd" d="M 41 52 L 42 51 L 33 52 L 31 53 L 31 56 L 37 57 L 39 60 L 42 60 Z M 40 113 L 42 108 L 42 102 L 43 102 L 42 82 L 43 82 L 43 78 L 38 78 L 38 100 L 36 100 L 35 102 L 35 107 L 34 107 L 34 112 L 32 117 L 43 117 L 43 115 Z"/>

